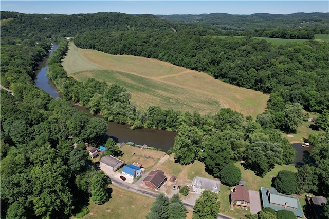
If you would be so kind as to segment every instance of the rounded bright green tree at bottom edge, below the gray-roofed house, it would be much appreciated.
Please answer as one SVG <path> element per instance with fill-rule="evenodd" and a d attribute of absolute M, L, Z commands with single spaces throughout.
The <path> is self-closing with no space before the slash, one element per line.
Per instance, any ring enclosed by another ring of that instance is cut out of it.
<path fill-rule="evenodd" d="M 220 212 L 218 194 L 210 190 L 204 190 L 202 195 L 195 201 L 193 210 L 193 219 L 217 218 Z"/>

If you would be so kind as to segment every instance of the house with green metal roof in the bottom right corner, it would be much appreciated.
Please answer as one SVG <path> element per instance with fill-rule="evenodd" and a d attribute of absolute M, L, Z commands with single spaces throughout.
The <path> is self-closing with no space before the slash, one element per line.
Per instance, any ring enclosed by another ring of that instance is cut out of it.
<path fill-rule="evenodd" d="M 304 213 L 299 200 L 295 196 L 278 193 L 275 188 L 261 187 L 263 208 L 270 207 L 275 211 L 288 210 L 295 214 L 297 218 L 304 218 Z"/>

